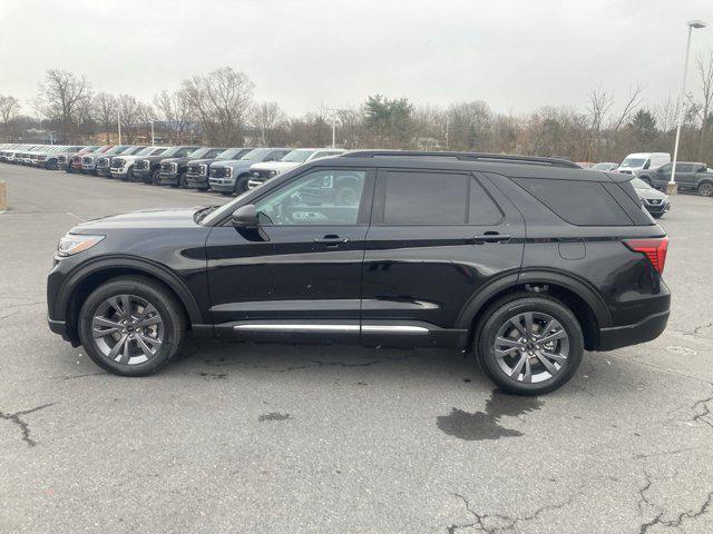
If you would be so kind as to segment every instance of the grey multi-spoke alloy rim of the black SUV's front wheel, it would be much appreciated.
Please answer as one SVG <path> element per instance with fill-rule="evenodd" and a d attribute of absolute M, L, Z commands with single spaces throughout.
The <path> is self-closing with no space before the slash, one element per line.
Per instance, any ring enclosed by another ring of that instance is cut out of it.
<path fill-rule="evenodd" d="M 104 300 L 91 319 L 96 347 L 108 359 L 138 365 L 154 358 L 164 343 L 164 320 L 148 300 L 116 295 Z"/>

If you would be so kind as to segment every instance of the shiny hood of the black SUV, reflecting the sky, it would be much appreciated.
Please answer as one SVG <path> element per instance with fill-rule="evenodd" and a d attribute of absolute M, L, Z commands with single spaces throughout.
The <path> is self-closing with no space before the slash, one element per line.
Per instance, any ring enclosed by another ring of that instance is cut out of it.
<path fill-rule="evenodd" d="M 87 220 L 75 226 L 72 234 L 92 234 L 113 228 L 185 228 L 197 226 L 193 215 L 204 206 L 194 208 L 143 209 L 128 214 L 110 215 Z"/>

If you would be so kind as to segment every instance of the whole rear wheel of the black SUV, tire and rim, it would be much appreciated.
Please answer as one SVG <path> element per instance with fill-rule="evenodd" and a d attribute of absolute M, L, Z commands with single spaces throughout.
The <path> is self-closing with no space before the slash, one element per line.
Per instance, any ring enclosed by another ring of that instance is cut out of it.
<path fill-rule="evenodd" d="M 517 395 L 540 395 L 564 385 L 584 353 L 582 327 L 560 301 L 516 295 L 486 312 L 477 329 L 478 359 L 496 385 Z"/>

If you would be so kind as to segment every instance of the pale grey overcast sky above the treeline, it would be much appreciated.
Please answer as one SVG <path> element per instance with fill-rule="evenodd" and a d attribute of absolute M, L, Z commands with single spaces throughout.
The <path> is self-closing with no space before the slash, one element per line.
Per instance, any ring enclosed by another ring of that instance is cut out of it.
<path fill-rule="evenodd" d="M 0 0 L 0 95 L 31 112 L 60 68 L 152 101 L 229 66 L 293 115 L 374 92 L 585 108 L 592 88 L 621 101 L 637 83 L 655 103 L 678 91 L 691 19 L 713 24 L 713 0 Z M 695 30 L 692 59 L 710 51 L 713 28 Z"/>

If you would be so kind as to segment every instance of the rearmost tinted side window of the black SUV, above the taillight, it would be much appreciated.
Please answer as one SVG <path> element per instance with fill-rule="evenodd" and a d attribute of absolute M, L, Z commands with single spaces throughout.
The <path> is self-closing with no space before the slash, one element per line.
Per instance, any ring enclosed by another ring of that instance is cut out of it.
<path fill-rule="evenodd" d="M 577 226 L 632 226 L 618 202 L 598 181 L 514 178 L 560 218 Z"/>

